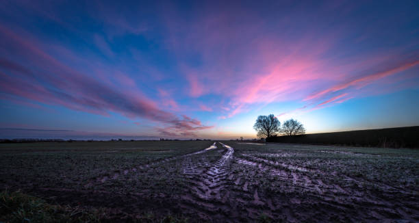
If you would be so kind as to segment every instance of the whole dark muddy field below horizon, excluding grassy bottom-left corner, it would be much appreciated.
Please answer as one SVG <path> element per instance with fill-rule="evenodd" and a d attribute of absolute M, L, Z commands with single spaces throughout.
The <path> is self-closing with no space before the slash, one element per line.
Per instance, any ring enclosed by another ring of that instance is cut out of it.
<path fill-rule="evenodd" d="M 204 141 L 1 144 L 0 151 L 2 190 L 102 209 L 104 220 L 419 221 L 419 150 Z"/>

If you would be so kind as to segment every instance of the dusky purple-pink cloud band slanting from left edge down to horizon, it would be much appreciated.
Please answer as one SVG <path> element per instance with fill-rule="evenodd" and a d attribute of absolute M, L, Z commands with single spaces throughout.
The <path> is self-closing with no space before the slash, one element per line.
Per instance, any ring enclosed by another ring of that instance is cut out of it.
<path fill-rule="evenodd" d="M 166 130 L 188 135 L 191 130 L 207 129 L 198 120 L 159 109 L 140 92 L 117 90 L 94 77 L 69 68 L 7 27 L 0 26 L 3 49 L 10 57 L 0 61 L 1 92 L 40 103 L 62 105 L 70 109 L 109 115 L 117 112 L 129 118 L 146 118 L 166 124 Z M 34 64 L 31 69 L 23 64 Z M 36 65 L 35 65 L 36 64 Z M 134 94 L 133 94 L 134 93 Z M 194 133 L 195 134 L 195 133 Z"/>

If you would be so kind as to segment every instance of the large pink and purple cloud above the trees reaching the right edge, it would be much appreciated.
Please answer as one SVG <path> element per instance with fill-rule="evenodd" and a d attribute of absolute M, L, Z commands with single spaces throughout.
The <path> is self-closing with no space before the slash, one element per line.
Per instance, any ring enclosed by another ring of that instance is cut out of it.
<path fill-rule="evenodd" d="M 358 7 L 344 5 L 346 3 L 336 6 L 345 8 L 344 14 L 351 14 Z M 290 12 L 272 22 L 275 29 L 270 29 L 272 23 L 266 20 L 275 17 L 270 10 L 261 16 L 243 5 L 229 6 L 225 5 L 225 10 L 212 10 L 213 6 L 209 5 L 188 23 L 183 23 L 183 14 L 169 10 L 170 19 L 166 21 L 170 36 L 168 48 L 175 52 L 182 64 L 181 73 L 189 83 L 190 96 L 223 96 L 227 103 L 222 106 L 228 107 L 229 111 L 220 118 L 246 113 L 249 107 L 255 109 L 288 101 L 307 102 L 309 109 L 321 100 L 332 99 L 333 92 L 340 90 L 348 91 L 345 96 L 354 98 L 359 96 L 351 92 L 355 88 L 416 66 L 415 63 L 409 64 L 415 55 L 408 53 L 403 45 L 389 47 L 385 52 L 377 49 L 364 51 L 356 47 L 355 50 L 346 49 L 348 42 L 356 45 L 361 40 L 377 37 L 369 33 L 353 33 L 353 25 L 347 21 L 331 28 L 333 24 L 318 17 L 314 11 L 304 12 L 307 20 L 321 24 L 319 29 L 294 21 L 296 15 Z M 318 10 L 325 14 L 336 12 L 336 8 L 319 7 Z M 194 55 L 194 60 L 188 63 L 191 55 Z M 396 58 L 400 61 L 396 62 Z M 395 68 L 368 74 L 368 70 L 381 68 L 383 64 Z M 350 81 L 336 84 L 343 80 Z"/>

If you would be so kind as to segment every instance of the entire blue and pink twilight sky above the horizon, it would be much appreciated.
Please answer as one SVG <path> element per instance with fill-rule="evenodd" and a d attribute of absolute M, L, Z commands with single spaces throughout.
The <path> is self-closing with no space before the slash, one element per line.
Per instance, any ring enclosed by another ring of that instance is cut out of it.
<path fill-rule="evenodd" d="M 419 125 L 419 1 L 2 1 L 0 138 Z"/>

